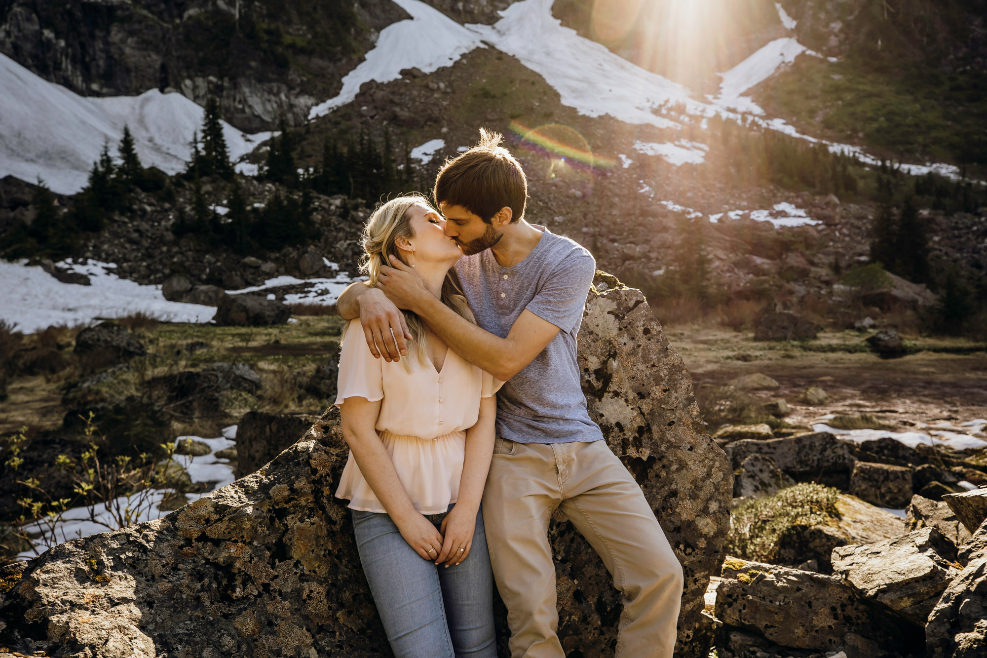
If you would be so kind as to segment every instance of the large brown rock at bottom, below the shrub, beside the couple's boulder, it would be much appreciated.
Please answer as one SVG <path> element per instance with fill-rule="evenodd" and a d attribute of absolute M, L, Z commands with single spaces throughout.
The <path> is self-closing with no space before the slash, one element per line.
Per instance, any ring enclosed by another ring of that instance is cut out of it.
<path fill-rule="evenodd" d="M 776 644 L 825 651 L 854 633 L 887 651 L 921 646 L 921 629 L 862 600 L 836 576 L 727 558 L 716 617 Z"/>

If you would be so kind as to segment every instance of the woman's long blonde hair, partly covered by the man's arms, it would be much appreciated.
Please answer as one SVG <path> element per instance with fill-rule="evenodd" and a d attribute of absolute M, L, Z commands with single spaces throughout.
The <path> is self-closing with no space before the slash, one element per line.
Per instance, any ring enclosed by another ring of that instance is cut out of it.
<path fill-rule="evenodd" d="M 380 276 L 381 266 L 390 267 L 388 256 L 394 255 L 401 262 L 406 263 L 401 250 L 397 248 L 396 241 L 399 237 L 414 238 L 415 231 L 412 229 L 411 212 L 412 206 L 425 206 L 432 209 L 428 200 L 421 195 L 406 195 L 392 199 L 391 201 L 378 206 L 367 219 L 366 226 L 363 227 L 363 236 L 360 244 L 363 246 L 363 256 L 360 258 L 360 274 L 368 279 L 367 286 L 376 286 Z M 449 270 L 442 282 L 442 303 L 465 317 L 470 322 L 476 322 L 470 305 L 463 294 L 463 288 L 459 283 L 454 268 Z M 415 313 L 402 311 L 405 314 L 405 321 L 408 329 L 412 333 L 412 341 L 415 343 L 415 351 L 418 355 L 418 363 L 427 365 L 425 356 L 425 330 L 424 324 Z M 405 370 L 411 372 L 412 367 L 408 359 L 402 358 L 401 363 Z"/>

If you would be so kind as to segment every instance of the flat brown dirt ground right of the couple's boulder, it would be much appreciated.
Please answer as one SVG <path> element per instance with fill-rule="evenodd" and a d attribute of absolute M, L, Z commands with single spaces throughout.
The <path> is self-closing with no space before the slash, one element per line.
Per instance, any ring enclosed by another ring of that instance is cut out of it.
<path fill-rule="evenodd" d="M 668 327 L 665 332 L 692 372 L 697 390 L 761 372 L 781 387 L 752 395 L 785 398 L 793 407 L 790 423 L 811 423 L 830 413 L 871 413 L 905 430 L 922 423 L 987 418 L 987 352 L 924 351 L 882 360 L 866 352 L 835 351 L 860 348 L 865 335 L 853 331 L 822 333 L 804 345 L 756 342 L 751 332 L 723 328 Z M 959 339 L 918 339 L 912 345 L 938 350 L 972 347 Z M 834 351 L 813 351 L 819 349 Z M 800 404 L 798 396 L 808 386 L 822 387 L 828 402 Z"/>

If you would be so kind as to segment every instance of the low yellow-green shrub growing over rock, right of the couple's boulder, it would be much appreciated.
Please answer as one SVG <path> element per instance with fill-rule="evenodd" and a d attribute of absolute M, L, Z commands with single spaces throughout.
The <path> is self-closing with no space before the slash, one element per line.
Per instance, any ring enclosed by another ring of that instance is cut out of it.
<path fill-rule="evenodd" d="M 771 562 L 779 540 L 791 529 L 834 525 L 840 518 L 838 495 L 838 490 L 821 484 L 797 484 L 740 505 L 730 514 L 726 554 Z"/>

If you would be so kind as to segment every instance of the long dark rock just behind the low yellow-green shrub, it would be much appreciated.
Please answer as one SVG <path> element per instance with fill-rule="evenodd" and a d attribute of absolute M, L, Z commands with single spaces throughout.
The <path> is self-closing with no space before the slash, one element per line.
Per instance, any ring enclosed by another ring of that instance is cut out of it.
<path fill-rule="evenodd" d="M 790 475 L 836 472 L 849 476 L 854 457 L 849 447 L 829 432 L 801 434 L 787 439 L 736 441 L 723 449 L 734 468 L 750 454 L 770 457 Z"/>

